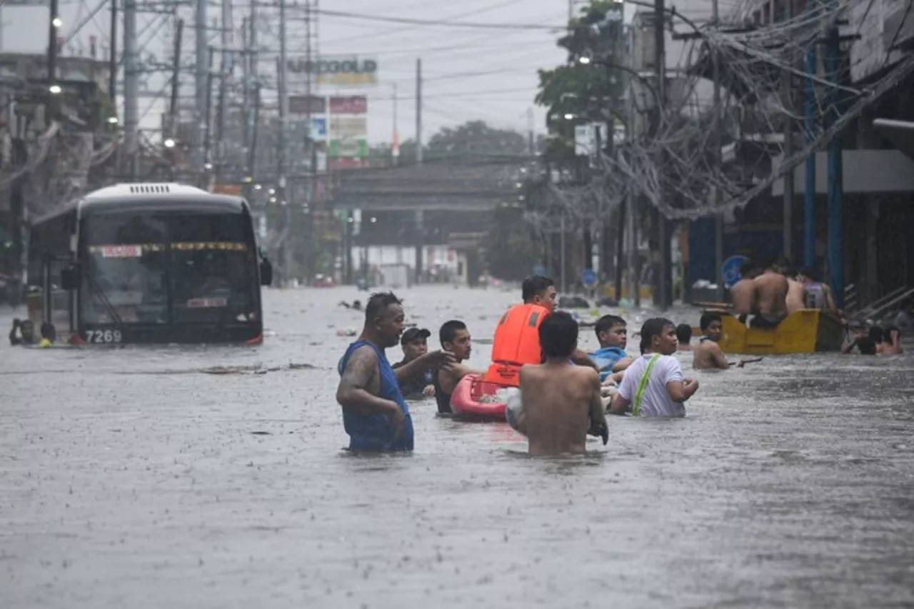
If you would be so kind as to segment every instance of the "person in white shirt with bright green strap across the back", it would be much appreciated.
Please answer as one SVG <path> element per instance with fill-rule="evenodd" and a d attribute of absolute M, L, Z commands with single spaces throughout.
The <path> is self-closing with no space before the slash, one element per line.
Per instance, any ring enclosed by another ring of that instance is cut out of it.
<path fill-rule="evenodd" d="M 675 324 L 655 317 L 641 328 L 641 358 L 622 377 L 610 412 L 624 414 L 631 407 L 635 416 L 684 417 L 685 401 L 695 395 L 698 381 L 683 379 L 676 352 Z"/>

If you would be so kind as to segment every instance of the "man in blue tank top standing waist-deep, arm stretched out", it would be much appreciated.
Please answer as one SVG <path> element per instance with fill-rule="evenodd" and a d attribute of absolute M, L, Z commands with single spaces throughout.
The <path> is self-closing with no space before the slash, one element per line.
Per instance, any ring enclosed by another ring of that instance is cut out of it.
<path fill-rule="evenodd" d="M 394 370 L 384 349 L 395 347 L 404 329 L 403 305 L 391 293 L 372 294 L 365 307 L 365 327 L 337 367 L 336 401 L 343 407 L 349 450 L 411 451 L 412 418 L 399 380 L 420 370 L 446 366 L 452 357 L 433 351 Z"/>

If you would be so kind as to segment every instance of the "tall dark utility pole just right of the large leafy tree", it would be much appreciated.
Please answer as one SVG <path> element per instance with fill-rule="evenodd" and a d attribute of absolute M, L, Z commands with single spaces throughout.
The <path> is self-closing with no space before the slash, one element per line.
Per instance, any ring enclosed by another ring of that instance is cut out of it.
<path fill-rule="evenodd" d="M 659 103 L 659 106 L 654 113 L 655 134 L 657 134 L 660 130 L 660 125 L 666 110 L 666 40 L 664 38 L 665 10 L 666 7 L 664 6 L 664 0 L 654 0 L 654 64 L 656 69 L 657 98 Z M 661 179 L 658 180 L 660 184 L 659 196 L 664 198 L 664 180 L 662 178 L 664 169 L 664 151 L 662 147 L 657 149 L 656 163 L 657 172 L 661 174 Z M 658 265 L 657 278 L 655 282 L 658 288 L 658 294 L 654 294 L 654 303 L 658 305 L 661 310 L 665 310 L 672 304 L 673 301 L 672 294 L 670 294 L 672 287 L 670 282 L 670 267 L 672 264 L 670 261 L 671 256 L 669 220 L 667 220 L 664 215 L 660 213 L 659 209 L 654 210 L 654 218 L 656 219 L 658 239 L 657 249 L 660 254 L 660 264 Z"/>

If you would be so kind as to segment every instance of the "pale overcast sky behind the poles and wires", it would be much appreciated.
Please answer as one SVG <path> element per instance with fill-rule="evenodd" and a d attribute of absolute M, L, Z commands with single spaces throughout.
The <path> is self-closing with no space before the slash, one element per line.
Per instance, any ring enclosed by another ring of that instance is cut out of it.
<path fill-rule="evenodd" d="M 69 36 L 98 3 L 65 2 L 60 7 L 64 20 L 63 31 Z M 301 3 L 300 3 L 301 4 Z M 507 29 L 482 27 L 443 27 L 433 25 L 387 23 L 368 18 L 346 16 L 319 16 L 319 48 L 325 54 L 357 53 L 377 59 L 379 84 L 363 90 L 367 93 L 369 137 L 372 142 L 388 142 L 393 130 L 394 85 L 398 91 L 400 140 L 415 135 L 415 69 L 416 59 L 422 59 L 425 84 L 423 86 L 423 136 L 442 126 L 452 126 L 468 120 L 484 120 L 501 127 L 526 132 L 527 112 L 534 108 L 534 129 L 545 131 L 545 116 L 535 107 L 533 98 L 537 91 L 537 69 L 562 63 L 565 54 L 556 46 L 558 34 L 545 27 L 562 27 L 569 14 L 568 0 L 324 0 L 322 10 L 347 12 L 360 16 L 384 16 L 419 20 L 451 20 L 484 24 L 531 24 L 542 29 Z M 235 0 L 233 21 L 240 27 L 241 18 L 248 13 L 249 2 Z M 182 9 L 188 19 L 184 48 L 192 52 L 192 24 L 189 8 Z M 264 29 L 261 29 L 261 46 L 278 50 L 275 9 L 262 9 Z M 626 11 L 631 16 L 632 10 Z M 208 17 L 218 18 L 219 8 L 210 5 Z M 303 24 L 295 17 L 302 12 L 290 11 L 287 20 L 289 56 L 301 56 L 304 49 Z M 3 48 L 8 51 L 44 52 L 48 37 L 48 8 L 3 7 L 5 23 Z M 271 23 L 268 23 L 271 22 Z M 155 15 L 141 15 L 138 29 L 142 32 L 143 57 L 154 54 L 161 61 L 171 56 L 168 27 Z M 269 31 L 271 29 L 271 32 Z M 119 27 L 122 31 L 122 28 Z M 188 31 L 189 30 L 189 31 Z M 88 49 L 89 37 L 96 35 L 101 47 L 107 47 L 108 8 L 80 29 L 73 37 L 70 53 L 75 53 L 81 43 Z M 217 35 L 218 36 L 218 35 Z M 218 43 L 218 40 L 216 41 Z M 85 51 L 84 51 L 85 52 Z M 192 60 L 188 55 L 187 65 Z M 261 62 L 267 69 L 269 58 Z M 165 88 L 168 76 L 159 74 L 150 79 L 149 88 Z M 190 77 L 183 82 L 186 94 L 192 94 Z M 296 91 L 290 91 L 294 93 Z M 334 91 L 324 91 L 331 93 Z M 142 126 L 156 128 L 158 114 L 164 100 L 143 99 L 140 111 L 145 114 Z"/>

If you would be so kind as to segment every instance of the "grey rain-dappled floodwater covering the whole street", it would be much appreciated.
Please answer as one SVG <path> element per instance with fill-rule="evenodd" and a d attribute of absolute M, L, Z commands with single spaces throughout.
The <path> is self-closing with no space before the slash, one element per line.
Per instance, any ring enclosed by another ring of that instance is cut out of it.
<path fill-rule="evenodd" d="M 401 295 L 491 338 L 517 294 Z M 685 419 L 574 458 L 420 402 L 415 454 L 356 457 L 343 298 L 268 292 L 261 347 L 0 347 L 0 607 L 914 604 L 910 356 L 696 373 Z"/>

